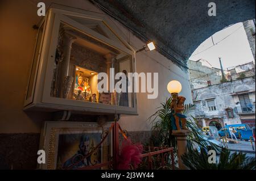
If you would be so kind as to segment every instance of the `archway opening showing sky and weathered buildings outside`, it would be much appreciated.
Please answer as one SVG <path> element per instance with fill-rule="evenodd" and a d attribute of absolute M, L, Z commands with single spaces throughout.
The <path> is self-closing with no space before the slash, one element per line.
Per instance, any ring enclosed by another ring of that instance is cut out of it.
<path fill-rule="evenodd" d="M 255 124 L 255 19 L 214 33 L 193 52 L 188 68 L 196 117 L 216 117 L 211 125 L 218 129 L 243 119 Z"/>

